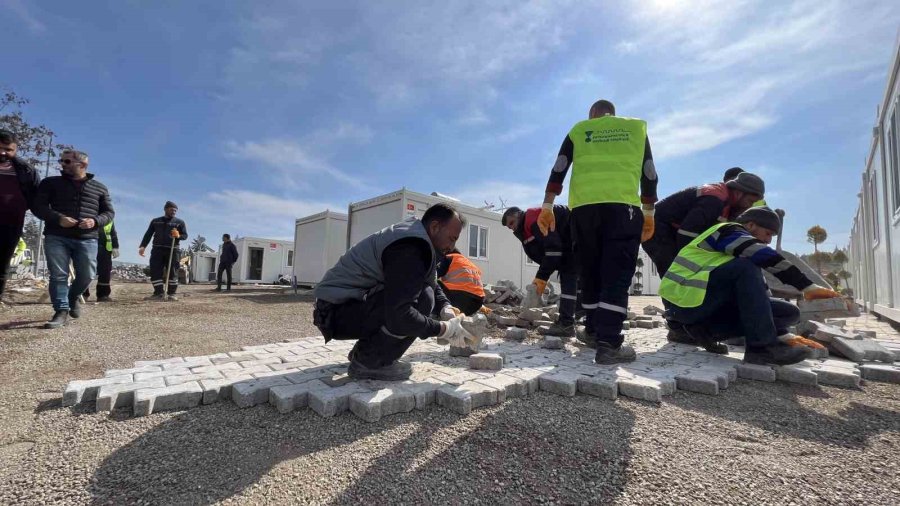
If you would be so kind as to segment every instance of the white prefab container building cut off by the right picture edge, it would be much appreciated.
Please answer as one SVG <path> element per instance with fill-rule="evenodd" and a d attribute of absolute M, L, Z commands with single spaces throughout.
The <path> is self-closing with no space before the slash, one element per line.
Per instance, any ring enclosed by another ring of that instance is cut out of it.
<path fill-rule="evenodd" d="M 857 301 L 900 323 L 900 39 L 887 75 L 850 230 L 847 270 Z"/>

